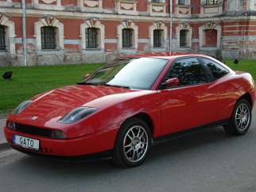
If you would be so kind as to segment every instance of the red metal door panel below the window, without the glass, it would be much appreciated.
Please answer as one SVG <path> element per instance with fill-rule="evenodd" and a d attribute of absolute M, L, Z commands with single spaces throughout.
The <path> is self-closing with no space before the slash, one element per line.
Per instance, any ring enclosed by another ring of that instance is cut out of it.
<path fill-rule="evenodd" d="M 163 135 L 215 121 L 217 95 L 211 83 L 158 90 L 158 94 L 162 119 L 173 119 L 171 125 L 169 121 L 162 121 Z"/>

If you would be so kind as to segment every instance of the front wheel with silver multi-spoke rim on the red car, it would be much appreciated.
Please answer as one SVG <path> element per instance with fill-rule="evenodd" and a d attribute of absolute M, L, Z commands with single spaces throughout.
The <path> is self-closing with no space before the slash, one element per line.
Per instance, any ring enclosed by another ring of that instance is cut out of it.
<path fill-rule="evenodd" d="M 116 140 L 112 161 L 122 167 L 136 167 L 142 164 L 150 149 L 151 132 L 141 119 L 131 117 L 123 122 Z"/>

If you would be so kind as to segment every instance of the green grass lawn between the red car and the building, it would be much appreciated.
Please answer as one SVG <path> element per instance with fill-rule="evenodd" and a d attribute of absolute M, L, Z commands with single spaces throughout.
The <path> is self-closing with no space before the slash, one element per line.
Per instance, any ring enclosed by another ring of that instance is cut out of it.
<path fill-rule="evenodd" d="M 233 62 L 234 60 L 226 60 L 227 66 L 233 70 L 250 72 L 256 80 L 255 60 L 240 60 L 239 64 Z M 19 103 L 45 90 L 78 83 L 83 75 L 102 65 L 103 63 L 0 67 L 1 76 L 6 71 L 13 71 L 10 81 L 0 80 L 0 113 L 10 113 Z"/>

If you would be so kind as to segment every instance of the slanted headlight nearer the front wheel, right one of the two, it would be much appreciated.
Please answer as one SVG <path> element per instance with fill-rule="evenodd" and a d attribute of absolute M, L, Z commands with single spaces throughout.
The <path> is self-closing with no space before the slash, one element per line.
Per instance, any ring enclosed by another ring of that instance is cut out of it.
<path fill-rule="evenodd" d="M 62 117 L 58 122 L 66 123 L 66 124 L 75 123 L 76 121 L 80 121 L 84 117 L 91 115 L 91 113 L 95 113 L 95 111 L 97 111 L 97 110 L 99 110 L 99 109 L 81 106 L 81 107 L 78 107 L 78 108 L 72 110 L 72 112 L 70 112 L 67 115 L 65 115 L 64 117 Z"/>

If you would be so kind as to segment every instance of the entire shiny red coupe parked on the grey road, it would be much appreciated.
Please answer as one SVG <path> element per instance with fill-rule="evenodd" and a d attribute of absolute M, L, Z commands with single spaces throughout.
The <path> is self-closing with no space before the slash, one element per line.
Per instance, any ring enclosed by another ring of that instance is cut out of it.
<path fill-rule="evenodd" d="M 135 167 L 152 144 L 178 136 L 218 126 L 245 134 L 254 101 L 251 75 L 210 56 L 138 54 L 22 102 L 4 132 L 30 155 Z"/>

